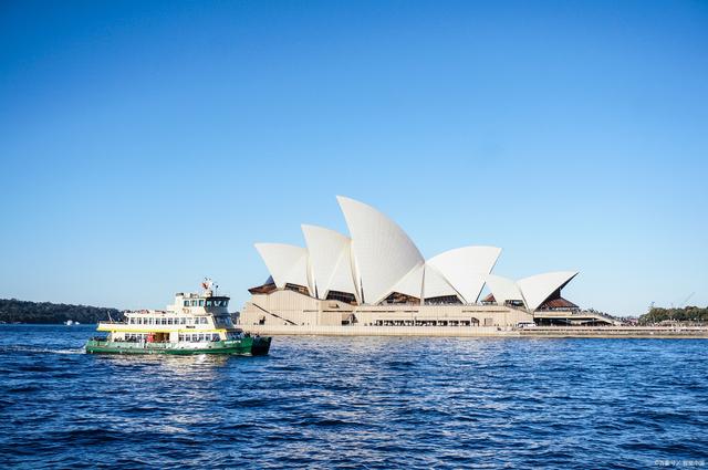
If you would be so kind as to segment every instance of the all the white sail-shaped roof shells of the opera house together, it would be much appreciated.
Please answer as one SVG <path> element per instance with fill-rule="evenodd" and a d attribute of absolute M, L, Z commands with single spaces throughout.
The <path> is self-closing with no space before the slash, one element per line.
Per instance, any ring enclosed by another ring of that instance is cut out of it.
<path fill-rule="evenodd" d="M 279 289 L 285 284 L 306 286 L 312 296 L 322 300 L 336 291 L 367 304 L 383 302 L 392 293 L 419 300 L 457 297 L 471 304 L 478 302 L 486 284 L 498 304 L 522 301 L 534 311 L 577 274 L 551 272 L 517 282 L 491 274 L 501 254 L 497 247 L 457 248 L 426 261 L 400 227 L 381 211 L 342 196 L 337 201 L 351 238 L 303 224 L 308 248 L 256 244 Z"/>

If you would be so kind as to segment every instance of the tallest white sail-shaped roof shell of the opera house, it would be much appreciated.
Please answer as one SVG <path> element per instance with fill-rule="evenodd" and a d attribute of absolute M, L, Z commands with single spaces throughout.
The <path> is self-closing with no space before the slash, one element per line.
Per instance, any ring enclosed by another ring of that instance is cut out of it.
<path fill-rule="evenodd" d="M 378 210 L 342 196 L 337 196 L 337 201 L 352 237 L 360 299 L 378 303 L 414 268 L 424 264 L 423 255 L 400 227 Z M 410 285 L 415 286 L 417 278 L 412 275 Z"/>

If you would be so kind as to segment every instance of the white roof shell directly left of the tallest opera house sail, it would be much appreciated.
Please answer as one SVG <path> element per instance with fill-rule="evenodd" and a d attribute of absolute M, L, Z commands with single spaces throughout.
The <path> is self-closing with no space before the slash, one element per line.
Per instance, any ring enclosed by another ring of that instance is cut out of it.
<path fill-rule="evenodd" d="M 310 254 L 312 294 L 316 292 L 320 299 L 326 299 L 329 291 L 354 294 L 352 240 L 340 232 L 316 226 L 303 224 L 302 233 Z"/>

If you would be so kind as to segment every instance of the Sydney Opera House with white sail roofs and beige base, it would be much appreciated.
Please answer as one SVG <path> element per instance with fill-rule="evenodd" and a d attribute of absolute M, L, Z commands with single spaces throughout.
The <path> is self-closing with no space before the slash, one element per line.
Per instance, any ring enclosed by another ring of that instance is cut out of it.
<path fill-rule="evenodd" d="M 569 322 L 580 311 L 561 296 L 575 271 L 502 278 L 492 274 L 496 247 L 461 247 L 426 260 L 384 213 L 337 200 L 348 237 L 303 224 L 304 247 L 256 244 L 270 278 L 249 290 L 241 324 L 509 327 L 543 317 Z"/>

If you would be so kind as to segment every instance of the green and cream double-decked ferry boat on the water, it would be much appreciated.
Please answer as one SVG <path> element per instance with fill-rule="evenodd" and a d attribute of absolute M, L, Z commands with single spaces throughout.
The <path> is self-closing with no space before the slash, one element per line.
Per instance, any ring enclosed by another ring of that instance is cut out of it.
<path fill-rule="evenodd" d="M 271 337 L 251 336 L 237 328 L 229 297 L 218 295 L 210 279 L 201 293 L 175 294 L 166 310 L 124 312 L 123 322 L 100 322 L 105 337 L 86 343 L 90 354 L 268 354 Z"/>

